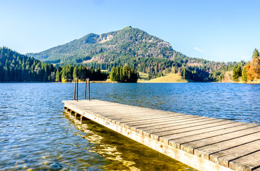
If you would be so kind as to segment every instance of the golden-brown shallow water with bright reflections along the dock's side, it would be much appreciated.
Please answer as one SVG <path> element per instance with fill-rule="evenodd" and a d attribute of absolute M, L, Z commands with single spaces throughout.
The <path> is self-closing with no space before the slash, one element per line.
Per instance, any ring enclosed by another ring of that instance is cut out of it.
<path fill-rule="evenodd" d="M 75 135 L 88 140 L 85 150 L 95 152 L 111 162 L 102 168 L 104 170 L 194 170 L 91 120 L 80 124 L 69 113 L 66 113 L 66 118 L 80 131 Z"/>

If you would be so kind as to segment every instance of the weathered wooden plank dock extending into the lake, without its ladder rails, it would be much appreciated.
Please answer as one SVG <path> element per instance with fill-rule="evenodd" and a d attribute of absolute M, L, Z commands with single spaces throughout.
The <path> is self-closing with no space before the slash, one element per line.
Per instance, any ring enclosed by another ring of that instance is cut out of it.
<path fill-rule="evenodd" d="M 63 101 L 65 109 L 197 170 L 260 170 L 260 125 L 101 100 Z"/>

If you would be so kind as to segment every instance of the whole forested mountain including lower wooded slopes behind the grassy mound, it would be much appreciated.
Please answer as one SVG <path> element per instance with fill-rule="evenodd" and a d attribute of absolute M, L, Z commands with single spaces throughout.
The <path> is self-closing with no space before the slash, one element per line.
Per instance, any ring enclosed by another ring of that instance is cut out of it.
<path fill-rule="evenodd" d="M 113 66 L 128 64 L 139 72 L 147 73 L 148 79 L 180 73 L 193 81 L 220 81 L 224 73 L 234 66 L 234 63 L 190 58 L 175 51 L 170 43 L 131 26 L 101 35 L 90 33 L 69 43 L 27 55 L 56 66 L 83 64 L 107 71 Z"/>

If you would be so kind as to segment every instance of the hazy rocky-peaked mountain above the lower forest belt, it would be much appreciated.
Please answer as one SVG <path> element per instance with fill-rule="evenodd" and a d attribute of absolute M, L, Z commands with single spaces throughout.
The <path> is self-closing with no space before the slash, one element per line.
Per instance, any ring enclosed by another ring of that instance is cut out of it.
<path fill-rule="evenodd" d="M 176 54 L 170 43 L 128 26 L 101 35 L 89 33 L 61 46 L 27 55 L 51 63 L 110 63 L 122 56 L 171 59 Z"/>

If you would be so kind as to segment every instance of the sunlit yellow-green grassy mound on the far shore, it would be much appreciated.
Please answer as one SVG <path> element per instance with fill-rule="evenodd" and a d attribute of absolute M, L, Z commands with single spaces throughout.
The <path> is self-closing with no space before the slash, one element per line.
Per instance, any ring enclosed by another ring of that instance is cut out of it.
<path fill-rule="evenodd" d="M 177 73 L 169 73 L 167 76 L 162 76 L 159 78 L 152 79 L 150 81 L 145 81 L 145 83 L 188 83 L 194 82 L 184 79 L 182 76 L 179 76 Z"/>

